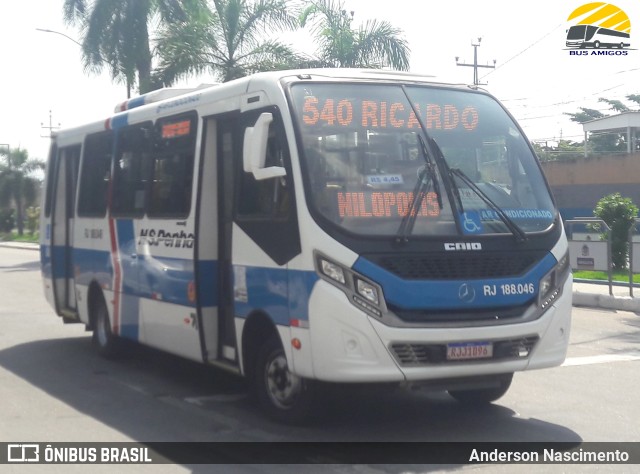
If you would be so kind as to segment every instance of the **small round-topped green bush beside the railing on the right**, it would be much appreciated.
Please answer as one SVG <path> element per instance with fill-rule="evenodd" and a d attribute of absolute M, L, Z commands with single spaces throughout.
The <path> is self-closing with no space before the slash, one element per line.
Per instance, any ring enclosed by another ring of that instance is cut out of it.
<path fill-rule="evenodd" d="M 638 206 L 620 193 L 614 193 L 600 199 L 593 214 L 611 228 L 611 258 L 614 268 L 627 268 L 629 229 L 638 216 Z"/>

